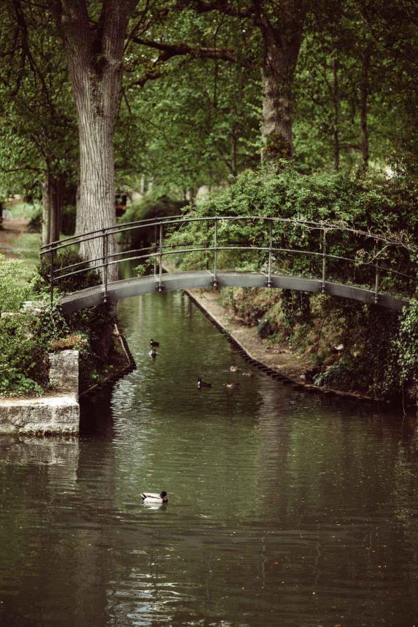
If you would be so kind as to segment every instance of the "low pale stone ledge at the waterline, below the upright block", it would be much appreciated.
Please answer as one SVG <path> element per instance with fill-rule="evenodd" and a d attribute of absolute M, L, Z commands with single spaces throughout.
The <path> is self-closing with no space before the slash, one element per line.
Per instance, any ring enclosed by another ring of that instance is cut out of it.
<path fill-rule="evenodd" d="M 79 420 L 75 394 L 0 400 L 0 434 L 77 435 Z"/>

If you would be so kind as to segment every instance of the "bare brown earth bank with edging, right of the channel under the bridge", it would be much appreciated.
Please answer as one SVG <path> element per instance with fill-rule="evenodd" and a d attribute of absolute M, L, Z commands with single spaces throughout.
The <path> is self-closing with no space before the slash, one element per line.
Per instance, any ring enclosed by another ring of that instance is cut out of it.
<path fill-rule="evenodd" d="M 245 326 L 240 323 L 219 303 L 219 292 L 207 289 L 189 289 L 185 292 L 219 328 L 224 329 L 255 365 L 272 371 L 268 374 L 274 376 L 275 372 L 278 377 L 311 393 L 381 402 L 362 393 L 341 391 L 326 386 L 320 387 L 307 382 L 305 373 L 314 365 L 310 355 L 295 354 L 289 342 L 285 340 L 272 345 L 268 340 L 261 339 L 255 326 Z"/>

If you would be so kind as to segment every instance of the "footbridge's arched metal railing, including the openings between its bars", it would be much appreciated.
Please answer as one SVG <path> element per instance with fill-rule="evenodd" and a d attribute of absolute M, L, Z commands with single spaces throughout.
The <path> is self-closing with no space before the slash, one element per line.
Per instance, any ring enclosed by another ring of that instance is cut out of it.
<path fill-rule="evenodd" d="M 117 239 L 127 233 L 135 234 L 139 246 L 118 250 Z M 82 252 L 88 245 L 95 250 L 93 259 L 60 262 L 63 252 Z M 417 250 L 401 237 L 377 235 L 341 223 L 291 218 L 174 216 L 139 220 L 50 243 L 42 246 L 40 254 L 49 259 L 51 299 L 54 287 L 68 286 L 68 280 L 79 275 L 88 278 L 86 285 L 100 282 L 100 275 L 106 299 L 109 282 L 116 275 L 114 269 L 134 261 L 152 266 L 161 290 L 165 259 L 175 257 L 186 267 L 188 260 L 192 269 L 206 267 L 214 286 L 219 271 L 237 271 L 242 260 L 249 262 L 250 257 L 255 258 L 250 268 L 265 274 L 266 287 L 272 287 L 272 275 L 277 271 L 296 272 L 320 280 L 323 292 L 327 280 L 367 285 L 377 302 L 380 289 L 410 293 L 416 283 Z"/>

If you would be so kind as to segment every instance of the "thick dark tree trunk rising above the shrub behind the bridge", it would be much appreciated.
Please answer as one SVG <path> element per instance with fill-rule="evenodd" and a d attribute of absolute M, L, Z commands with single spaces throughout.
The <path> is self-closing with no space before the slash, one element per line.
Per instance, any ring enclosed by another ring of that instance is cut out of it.
<path fill-rule="evenodd" d="M 258 13 L 264 43 L 262 161 L 293 156 L 293 82 L 306 9 L 303 2 L 283 4 L 274 22 Z"/>

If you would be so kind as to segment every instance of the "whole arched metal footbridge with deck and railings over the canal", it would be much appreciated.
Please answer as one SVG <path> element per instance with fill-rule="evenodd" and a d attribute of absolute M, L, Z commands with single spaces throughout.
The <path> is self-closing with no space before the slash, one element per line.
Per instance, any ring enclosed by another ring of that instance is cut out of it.
<path fill-rule="evenodd" d="M 118 245 L 128 233 L 137 248 Z M 65 263 L 63 253 L 86 247 L 89 262 Z M 415 292 L 411 252 L 401 238 L 340 223 L 176 216 L 73 236 L 42 246 L 40 254 L 48 260 L 51 299 L 59 288 L 70 313 L 140 294 L 224 286 L 295 289 L 400 310 Z M 134 261 L 139 275 L 116 280 L 117 270 Z M 96 285 L 72 292 L 68 280 L 83 276 Z"/>

